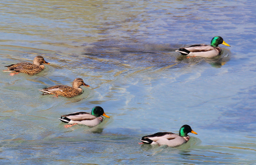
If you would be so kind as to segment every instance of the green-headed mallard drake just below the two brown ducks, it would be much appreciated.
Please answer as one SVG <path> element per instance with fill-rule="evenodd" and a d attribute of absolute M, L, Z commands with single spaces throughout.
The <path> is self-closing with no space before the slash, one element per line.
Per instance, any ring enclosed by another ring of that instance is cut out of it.
<path fill-rule="evenodd" d="M 58 119 L 60 119 L 60 121 L 63 121 L 64 123 L 72 125 L 84 124 L 89 127 L 94 127 L 103 121 L 103 117 L 101 115 L 109 118 L 109 116 L 105 114 L 103 108 L 97 106 L 91 109 L 91 113 L 75 112 L 67 115 L 62 115 Z M 65 128 L 71 127 L 72 125 L 65 125 Z"/>

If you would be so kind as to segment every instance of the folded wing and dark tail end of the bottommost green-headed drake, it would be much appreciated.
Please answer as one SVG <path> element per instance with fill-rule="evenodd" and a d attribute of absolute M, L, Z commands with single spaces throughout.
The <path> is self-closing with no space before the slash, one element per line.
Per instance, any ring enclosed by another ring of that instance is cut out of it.
<path fill-rule="evenodd" d="M 142 140 L 140 141 L 147 144 L 156 144 L 160 139 L 172 140 L 175 139 L 176 137 L 178 137 L 178 135 L 172 132 L 158 132 L 152 135 L 143 136 Z"/>

